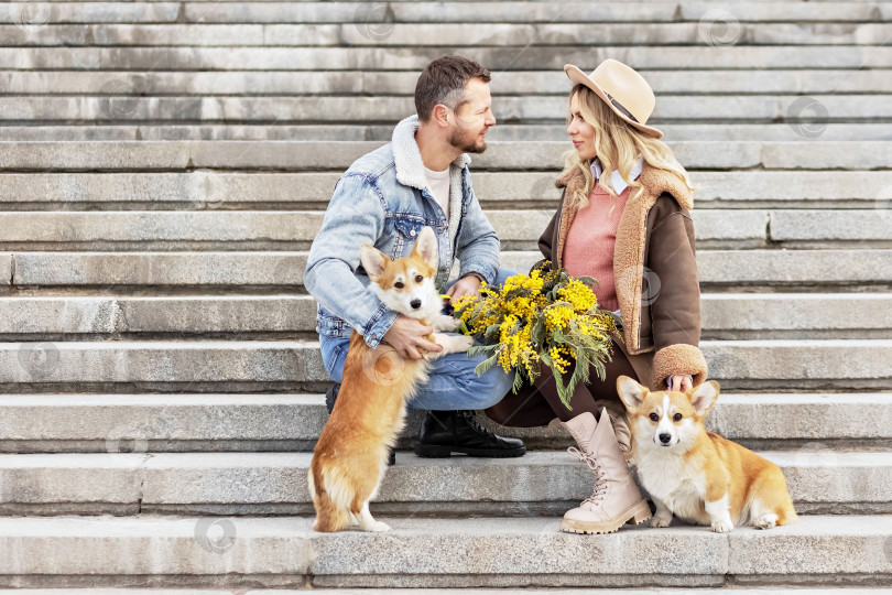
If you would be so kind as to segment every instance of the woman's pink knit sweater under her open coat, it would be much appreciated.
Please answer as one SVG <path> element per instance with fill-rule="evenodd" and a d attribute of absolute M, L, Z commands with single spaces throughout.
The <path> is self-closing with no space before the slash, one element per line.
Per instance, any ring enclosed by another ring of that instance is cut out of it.
<path fill-rule="evenodd" d="M 588 195 L 588 205 L 576 213 L 564 245 L 564 268 L 567 273 L 597 279 L 600 285 L 592 290 L 598 296 L 598 304 L 605 310 L 619 310 L 613 280 L 613 245 L 626 201 L 632 190 L 629 186 L 614 198 L 596 183 Z"/>

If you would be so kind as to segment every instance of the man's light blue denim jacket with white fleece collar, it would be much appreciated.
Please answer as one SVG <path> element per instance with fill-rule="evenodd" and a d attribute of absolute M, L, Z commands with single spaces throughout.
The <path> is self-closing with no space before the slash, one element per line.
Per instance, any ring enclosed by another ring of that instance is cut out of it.
<path fill-rule="evenodd" d="M 376 347 L 398 317 L 367 288 L 369 278 L 359 261 L 363 244 L 401 258 L 412 251 L 422 227 L 429 226 L 438 240 L 440 291 L 456 258 L 459 277 L 477 272 L 488 283 L 496 281 L 499 237 L 471 188 L 470 158 L 461 154 L 449 166 L 447 223 L 427 187 L 417 128 L 417 116 L 401 121 L 392 142 L 359 158 L 335 185 L 304 271 L 304 286 L 318 304 L 320 335 L 349 337 L 356 328 Z"/>

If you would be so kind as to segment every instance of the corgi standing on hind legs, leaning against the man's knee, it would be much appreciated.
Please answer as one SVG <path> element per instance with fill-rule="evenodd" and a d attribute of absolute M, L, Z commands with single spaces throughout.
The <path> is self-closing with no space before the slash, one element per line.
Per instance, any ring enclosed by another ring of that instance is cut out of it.
<path fill-rule="evenodd" d="M 437 239 L 429 227 L 422 229 L 412 253 L 390 260 L 371 246 L 360 248 L 362 267 L 371 289 L 391 310 L 431 325 L 435 331 L 455 331 L 460 322 L 440 313 L 443 300 L 434 285 Z M 313 529 L 334 532 L 350 524 L 366 531 L 388 531 L 369 512 L 387 469 L 389 448 L 405 423 L 406 402 L 427 380 L 429 360 L 467 351 L 468 336 L 434 334 L 426 337 L 443 346 L 422 359 L 403 359 L 385 344 L 370 348 L 353 331 L 344 365 L 344 379 L 328 423 L 314 448 L 307 479 L 316 523 Z"/>

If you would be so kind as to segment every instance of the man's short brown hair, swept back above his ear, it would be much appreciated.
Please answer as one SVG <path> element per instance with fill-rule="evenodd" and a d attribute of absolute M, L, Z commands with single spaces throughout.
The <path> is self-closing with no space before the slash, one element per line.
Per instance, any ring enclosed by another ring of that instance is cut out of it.
<path fill-rule="evenodd" d="M 465 99 L 468 80 L 479 78 L 489 83 L 490 74 L 472 60 L 461 56 L 443 56 L 424 68 L 415 84 L 415 110 L 418 119 L 426 122 L 437 104 L 458 111 Z"/>

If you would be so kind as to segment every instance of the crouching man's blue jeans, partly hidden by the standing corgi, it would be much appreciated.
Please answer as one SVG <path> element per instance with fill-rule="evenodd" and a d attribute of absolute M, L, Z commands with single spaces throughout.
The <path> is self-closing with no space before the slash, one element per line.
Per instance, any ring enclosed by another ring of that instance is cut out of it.
<path fill-rule="evenodd" d="M 496 283 L 501 285 L 513 274 L 516 273 L 501 269 L 496 278 Z M 450 288 L 453 283 L 448 283 L 446 289 Z M 328 376 L 335 382 L 340 382 L 350 338 L 319 335 L 319 345 Z M 512 370 L 510 374 L 505 374 L 501 367 L 493 366 L 482 376 L 477 376 L 474 374 L 474 368 L 483 359 L 483 356 L 468 357 L 468 354 L 465 353 L 447 354 L 434 359 L 427 382 L 418 387 L 417 394 L 409 401 L 409 409 L 476 410 L 498 403 L 511 390 L 514 372 Z"/>

